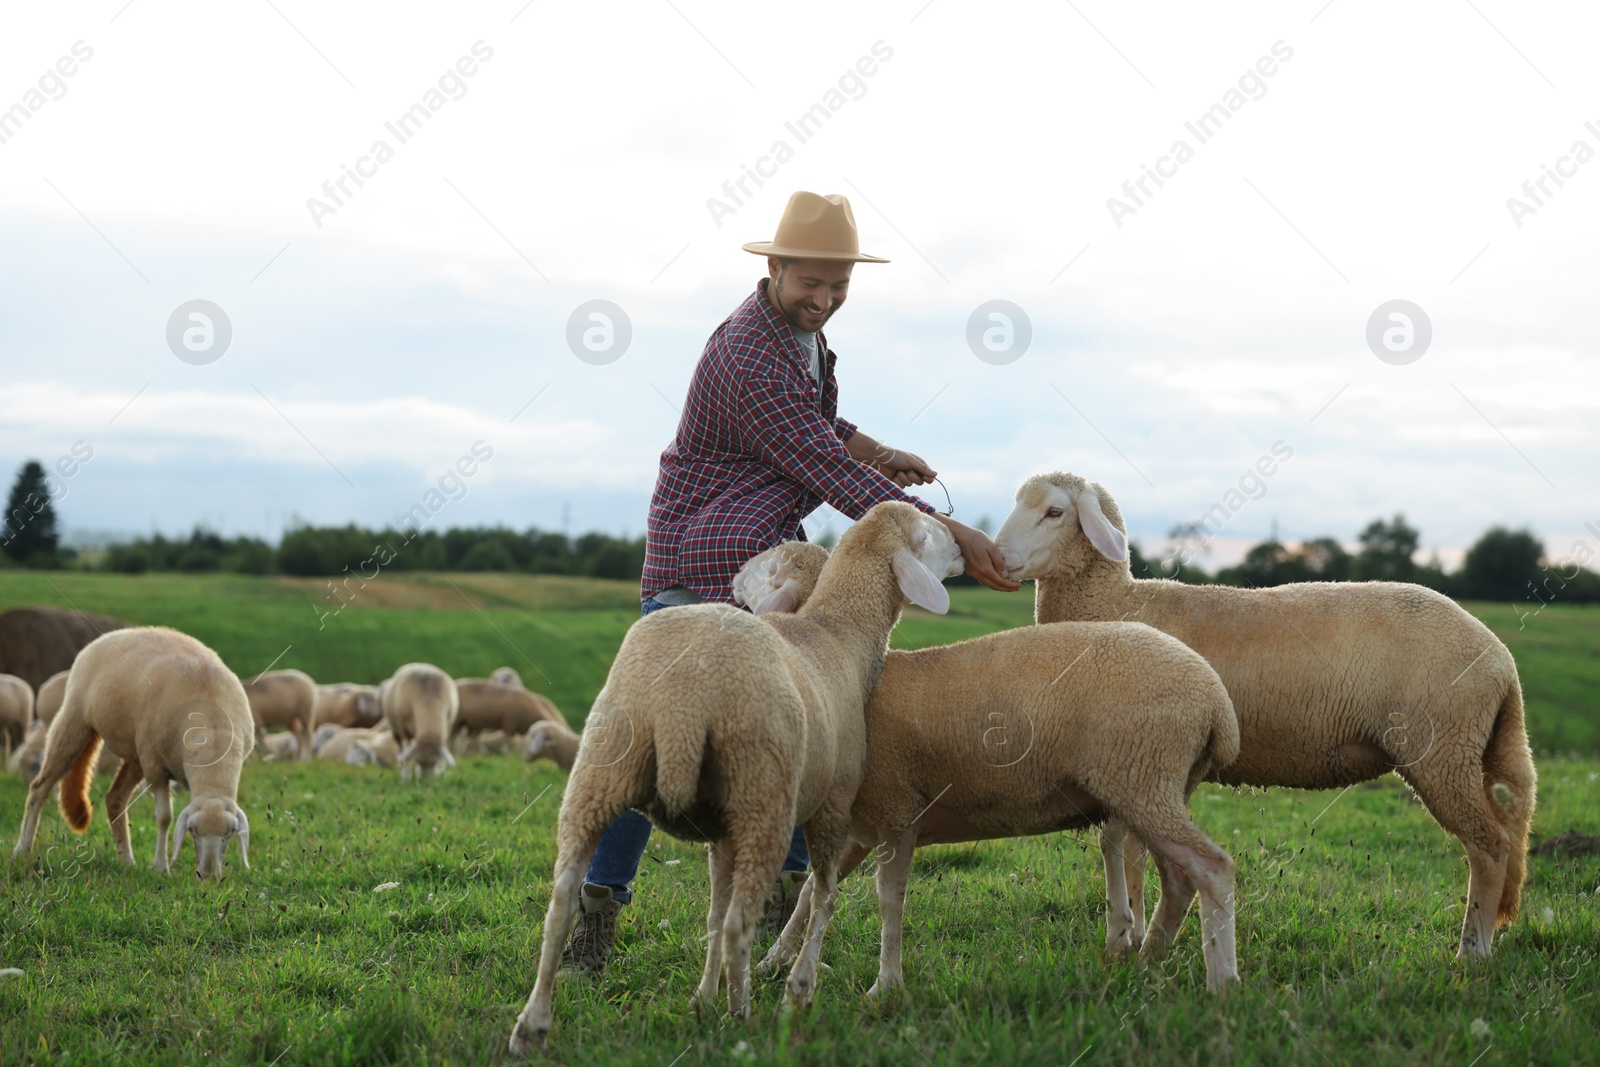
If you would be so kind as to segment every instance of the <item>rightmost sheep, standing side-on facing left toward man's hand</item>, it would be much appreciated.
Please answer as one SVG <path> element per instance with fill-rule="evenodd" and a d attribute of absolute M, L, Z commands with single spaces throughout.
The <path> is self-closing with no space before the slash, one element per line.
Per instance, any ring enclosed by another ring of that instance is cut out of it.
<path fill-rule="evenodd" d="M 1038 622 L 1147 622 L 1216 667 L 1240 731 L 1216 781 L 1338 789 L 1395 771 L 1466 846 L 1456 955 L 1486 957 L 1522 902 L 1538 785 L 1510 651 L 1421 585 L 1134 579 L 1125 530 L 1101 485 L 1056 472 L 1022 483 L 997 544 L 1011 577 L 1035 579 Z M 1136 894 L 1142 869 L 1130 856 Z"/>

